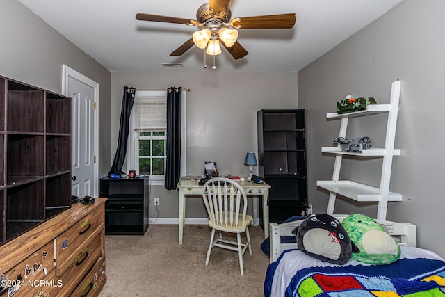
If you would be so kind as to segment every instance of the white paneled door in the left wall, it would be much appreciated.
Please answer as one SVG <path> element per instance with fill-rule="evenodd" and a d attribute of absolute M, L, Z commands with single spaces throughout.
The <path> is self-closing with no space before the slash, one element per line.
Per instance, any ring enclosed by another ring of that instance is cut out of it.
<path fill-rule="evenodd" d="M 98 84 L 64 65 L 65 95 L 72 98 L 72 195 L 97 197 Z"/>

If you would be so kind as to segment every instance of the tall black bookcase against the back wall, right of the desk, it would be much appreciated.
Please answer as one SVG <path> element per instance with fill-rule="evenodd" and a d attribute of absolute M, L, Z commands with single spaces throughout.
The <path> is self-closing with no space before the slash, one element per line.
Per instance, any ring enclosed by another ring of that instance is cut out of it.
<path fill-rule="evenodd" d="M 270 185 L 269 221 L 283 223 L 307 208 L 304 109 L 257 112 L 259 175 Z"/>

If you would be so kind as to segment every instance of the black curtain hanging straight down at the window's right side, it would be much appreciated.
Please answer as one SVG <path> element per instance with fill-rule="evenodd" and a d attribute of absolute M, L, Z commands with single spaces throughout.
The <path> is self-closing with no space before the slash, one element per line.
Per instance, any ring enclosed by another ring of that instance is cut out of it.
<path fill-rule="evenodd" d="M 175 190 L 181 178 L 181 93 L 181 87 L 167 90 L 167 190 Z"/>

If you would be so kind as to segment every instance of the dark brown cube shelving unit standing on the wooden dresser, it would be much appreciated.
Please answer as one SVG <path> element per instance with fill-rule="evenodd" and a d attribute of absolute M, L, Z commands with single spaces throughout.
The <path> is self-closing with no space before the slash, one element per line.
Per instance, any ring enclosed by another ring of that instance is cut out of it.
<path fill-rule="evenodd" d="M 0 77 L 0 245 L 71 207 L 71 98 Z"/>

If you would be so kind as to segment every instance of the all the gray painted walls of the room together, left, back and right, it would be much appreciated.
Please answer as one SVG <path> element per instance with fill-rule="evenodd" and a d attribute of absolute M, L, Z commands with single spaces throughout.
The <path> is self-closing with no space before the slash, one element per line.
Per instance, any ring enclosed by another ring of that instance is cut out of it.
<path fill-rule="evenodd" d="M 352 38 L 298 73 L 298 107 L 307 109 L 309 200 L 325 211 L 327 193 L 316 180 L 330 179 L 334 158 L 321 154 L 331 145 L 339 122 L 325 114 L 348 93 L 389 102 L 391 81 L 401 79 L 402 92 L 391 191 L 403 202 L 389 204 L 388 218 L 418 226 L 418 243 L 445 256 L 439 226 L 442 218 L 442 167 L 445 78 L 445 2 L 405 0 Z M 2 0 L 0 75 L 61 92 L 62 65 L 99 83 L 99 172 L 106 175 L 117 143 L 123 86 L 168 88 L 184 86 L 188 93 L 188 173 L 202 172 L 202 162 L 218 161 L 221 172 L 247 175 L 245 152 L 256 151 L 255 113 L 259 109 L 296 108 L 295 73 L 113 73 L 96 63 L 15 0 Z M 367 134 L 375 147 L 385 137 L 385 115 L 351 120 L 348 136 Z M 113 135 L 110 130 L 115 131 Z M 110 145 L 111 144 L 111 145 Z M 346 160 L 341 178 L 378 186 L 381 160 Z M 254 168 L 257 172 L 257 168 Z M 177 217 L 177 192 L 152 188 L 161 197 L 160 217 Z M 337 202 L 337 213 L 375 216 L 374 204 Z M 150 216 L 155 216 L 150 209 Z M 204 217 L 200 199 L 190 199 L 187 217 Z M 439 224 L 439 226 L 437 225 Z"/>

